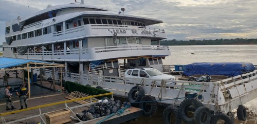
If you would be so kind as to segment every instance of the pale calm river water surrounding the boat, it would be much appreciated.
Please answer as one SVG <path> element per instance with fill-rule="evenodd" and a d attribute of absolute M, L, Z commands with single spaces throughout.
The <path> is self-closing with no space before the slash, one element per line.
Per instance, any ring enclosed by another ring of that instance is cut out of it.
<path fill-rule="evenodd" d="M 257 45 L 217 45 L 217 46 L 170 46 L 171 56 L 163 60 L 164 65 L 187 65 L 196 62 L 247 62 L 257 65 Z M 245 104 L 247 121 L 239 121 L 235 114 L 235 124 L 257 123 L 257 98 Z M 125 123 L 161 124 L 164 107 L 159 107 L 152 117 L 140 117 L 136 121 Z M 124 123 L 124 124 L 125 124 Z"/>

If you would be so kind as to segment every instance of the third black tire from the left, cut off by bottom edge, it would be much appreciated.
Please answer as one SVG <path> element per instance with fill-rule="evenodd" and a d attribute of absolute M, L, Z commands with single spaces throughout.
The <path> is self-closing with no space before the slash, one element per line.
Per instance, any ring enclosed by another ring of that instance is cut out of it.
<path fill-rule="evenodd" d="M 179 108 L 173 107 L 173 105 L 166 107 L 162 114 L 164 124 L 180 124 L 180 123 L 182 123 L 178 111 L 179 111 Z M 174 123 L 170 122 L 171 113 L 175 115 Z"/>

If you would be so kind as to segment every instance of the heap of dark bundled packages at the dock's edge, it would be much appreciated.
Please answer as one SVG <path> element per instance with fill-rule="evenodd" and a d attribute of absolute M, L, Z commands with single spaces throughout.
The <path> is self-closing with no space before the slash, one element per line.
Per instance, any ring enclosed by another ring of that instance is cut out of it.
<path fill-rule="evenodd" d="M 80 120 L 86 121 L 116 113 L 121 106 L 122 102 L 120 100 L 115 101 L 113 99 L 103 98 L 96 104 L 90 106 L 88 110 L 84 110 L 82 113 L 77 113 L 76 115 Z"/>

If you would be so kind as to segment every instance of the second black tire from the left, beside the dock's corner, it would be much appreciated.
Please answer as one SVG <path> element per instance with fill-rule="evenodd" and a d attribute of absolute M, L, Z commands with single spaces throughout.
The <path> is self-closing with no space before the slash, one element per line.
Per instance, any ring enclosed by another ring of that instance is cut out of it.
<path fill-rule="evenodd" d="M 158 107 L 158 103 L 155 101 L 155 97 L 151 96 L 151 95 L 146 95 L 143 96 L 140 101 L 153 101 L 153 102 L 140 102 L 139 106 L 141 109 L 143 109 L 143 115 L 146 117 L 151 117 L 153 116 L 156 111 L 157 111 L 157 107 Z M 148 111 L 146 108 L 146 104 L 151 103 L 151 108 Z"/>

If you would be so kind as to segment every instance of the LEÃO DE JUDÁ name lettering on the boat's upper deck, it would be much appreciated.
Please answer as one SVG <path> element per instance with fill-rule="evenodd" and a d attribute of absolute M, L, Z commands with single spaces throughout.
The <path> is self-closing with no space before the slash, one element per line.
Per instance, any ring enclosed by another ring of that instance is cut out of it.
<path fill-rule="evenodd" d="M 127 34 L 126 30 L 119 30 L 119 29 L 110 30 L 110 29 L 108 29 L 108 31 L 110 33 Z M 146 31 L 146 30 L 142 30 L 141 32 L 138 32 L 138 30 L 130 30 L 130 31 L 131 31 L 132 34 L 142 34 L 142 35 L 153 35 L 153 36 L 155 36 L 155 32 L 151 32 L 151 31 Z"/>

